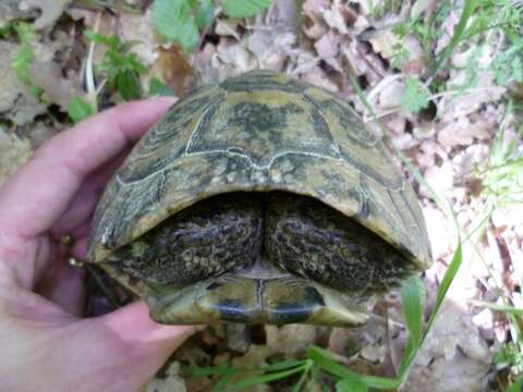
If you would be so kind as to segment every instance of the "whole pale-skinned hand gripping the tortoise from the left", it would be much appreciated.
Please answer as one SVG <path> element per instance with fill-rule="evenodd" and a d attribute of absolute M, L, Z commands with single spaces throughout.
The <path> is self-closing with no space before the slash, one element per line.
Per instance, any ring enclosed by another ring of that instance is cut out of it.
<path fill-rule="evenodd" d="M 122 105 L 46 142 L 0 187 L 2 391 L 139 391 L 195 328 L 160 326 L 136 302 L 82 318 L 92 213 L 129 147 L 172 100 Z"/>

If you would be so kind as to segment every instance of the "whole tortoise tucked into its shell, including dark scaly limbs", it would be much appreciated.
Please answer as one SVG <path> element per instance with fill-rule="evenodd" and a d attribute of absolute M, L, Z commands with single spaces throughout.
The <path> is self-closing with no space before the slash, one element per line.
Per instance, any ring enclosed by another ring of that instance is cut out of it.
<path fill-rule="evenodd" d="M 254 71 L 179 100 L 134 146 L 88 261 L 161 323 L 349 327 L 431 257 L 414 191 L 352 107 Z"/>

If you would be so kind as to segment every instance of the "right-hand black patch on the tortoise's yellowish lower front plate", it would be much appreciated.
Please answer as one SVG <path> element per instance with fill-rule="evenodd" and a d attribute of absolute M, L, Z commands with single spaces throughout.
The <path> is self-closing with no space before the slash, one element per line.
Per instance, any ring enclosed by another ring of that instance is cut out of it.
<path fill-rule="evenodd" d="M 306 321 L 314 311 L 325 306 L 325 301 L 321 294 L 312 286 L 304 289 L 304 297 L 295 303 L 281 303 L 275 306 L 271 311 L 271 319 L 275 323 L 293 323 Z"/>

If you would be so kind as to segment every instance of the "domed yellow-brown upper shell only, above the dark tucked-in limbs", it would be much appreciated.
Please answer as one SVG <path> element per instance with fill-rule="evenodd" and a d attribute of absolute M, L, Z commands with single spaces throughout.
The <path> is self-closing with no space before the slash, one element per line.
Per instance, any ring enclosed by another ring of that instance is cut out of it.
<path fill-rule="evenodd" d="M 342 99 L 269 71 L 203 87 L 148 131 L 107 185 L 88 259 L 211 195 L 276 189 L 355 219 L 419 270 L 431 264 L 416 196 L 385 145 Z"/>

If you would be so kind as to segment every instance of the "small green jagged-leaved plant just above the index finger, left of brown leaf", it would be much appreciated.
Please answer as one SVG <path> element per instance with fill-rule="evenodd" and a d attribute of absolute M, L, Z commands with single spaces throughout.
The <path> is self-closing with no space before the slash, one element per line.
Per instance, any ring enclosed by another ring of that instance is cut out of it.
<path fill-rule="evenodd" d="M 139 98 L 142 96 L 139 76 L 147 69 L 136 53 L 130 51 L 139 41 L 122 42 L 118 36 L 108 37 L 93 30 L 85 30 L 84 35 L 89 41 L 107 47 L 102 62 L 96 66 L 96 71 L 107 78 L 107 86 L 112 91 L 120 93 L 125 100 Z"/>

